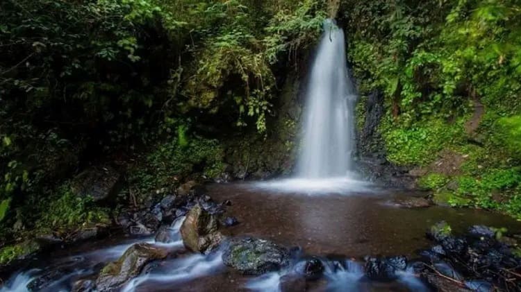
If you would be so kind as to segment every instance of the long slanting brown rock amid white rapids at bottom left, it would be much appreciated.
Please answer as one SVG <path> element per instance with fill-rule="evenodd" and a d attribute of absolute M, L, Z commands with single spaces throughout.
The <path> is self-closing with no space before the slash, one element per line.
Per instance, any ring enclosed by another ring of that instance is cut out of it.
<path fill-rule="evenodd" d="M 117 261 L 107 264 L 96 280 L 97 291 L 117 291 L 123 284 L 141 273 L 142 268 L 150 261 L 165 259 L 165 249 L 149 243 L 136 243 L 131 246 Z"/>

